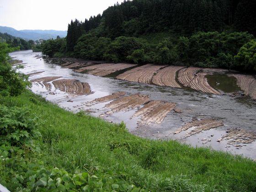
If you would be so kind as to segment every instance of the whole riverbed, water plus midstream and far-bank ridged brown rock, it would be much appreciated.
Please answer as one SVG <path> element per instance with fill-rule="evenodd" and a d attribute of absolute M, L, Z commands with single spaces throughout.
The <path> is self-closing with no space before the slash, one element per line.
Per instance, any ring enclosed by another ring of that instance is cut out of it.
<path fill-rule="evenodd" d="M 208 146 L 256 159 L 256 103 L 251 97 L 229 96 L 230 92 L 241 91 L 242 86 L 248 95 L 254 96 L 251 76 L 248 77 L 250 86 L 246 87 L 244 76 L 226 75 L 218 82 L 216 79 L 221 78 L 215 77 L 214 73 L 208 76 L 208 72 L 201 71 L 195 75 L 194 69 L 189 68 L 168 67 L 167 70 L 176 72 L 181 69 L 182 73 L 167 78 L 171 72 L 167 73 L 162 67 L 152 66 L 151 72 L 142 67 L 137 70 L 138 74 L 147 75 L 140 78 L 129 73 L 129 70 L 136 71 L 136 66 L 130 64 L 100 64 L 97 68 L 89 61 L 84 66 L 80 60 L 53 64 L 44 61 L 41 53 L 32 51 L 14 52 L 11 57 L 27 63 L 21 71 L 34 81 L 33 92 L 70 111 L 85 110 L 114 123 L 123 121 L 131 133 L 141 137 L 177 139 L 192 146 Z M 82 67 L 86 68 L 82 69 L 85 71 L 92 70 L 94 75 L 79 73 Z M 117 74 L 119 79 L 124 80 L 101 77 L 118 70 L 122 71 Z M 183 74 L 189 74 L 190 79 L 184 78 Z M 161 78 L 156 78 L 156 75 Z M 165 86 L 152 85 L 149 76 L 154 76 L 155 84 Z M 46 81 L 45 77 L 52 79 Z M 130 78 L 131 82 L 125 78 Z M 183 83 L 179 83 L 178 78 Z M 240 79 L 238 83 L 236 79 Z M 200 91 L 197 82 L 203 90 Z M 229 84 L 232 84 L 230 92 L 225 90 Z"/>

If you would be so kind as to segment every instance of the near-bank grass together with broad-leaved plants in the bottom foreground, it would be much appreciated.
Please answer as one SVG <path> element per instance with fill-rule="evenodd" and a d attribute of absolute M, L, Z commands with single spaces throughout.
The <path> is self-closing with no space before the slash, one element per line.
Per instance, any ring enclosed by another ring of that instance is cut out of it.
<path fill-rule="evenodd" d="M 85 186 L 91 191 L 256 190 L 252 160 L 172 140 L 142 139 L 123 123 L 67 112 L 31 92 L 0 102 L 27 106 L 44 120 L 38 126 L 43 137 L 36 143 L 41 150 L 22 148 L 23 155 L 0 158 L 0 183 L 11 191 L 35 191 L 36 186 L 39 191 L 59 186 L 69 187 L 66 191 Z"/>

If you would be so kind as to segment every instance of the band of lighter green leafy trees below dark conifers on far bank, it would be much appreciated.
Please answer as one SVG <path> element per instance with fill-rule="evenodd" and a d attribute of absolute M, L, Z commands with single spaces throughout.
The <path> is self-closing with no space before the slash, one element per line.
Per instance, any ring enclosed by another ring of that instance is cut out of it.
<path fill-rule="evenodd" d="M 197 32 L 191 37 L 158 38 L 158 42 L 136 37 L 96 37 L 91 32 L 81 36 L 73 52 L 82 59 L 195 65 L 199 67 L 250 70 L 235 67 L 234 56 L 254 37 L 247 32 Z M 153 43 L 150 43 L 150 42 Z M 50 53 L 52 54 L 52 53 Z M 63 57 L 65 53 L 55 53 Z M 242 62 L 243 65 L 243 62 Z"/>

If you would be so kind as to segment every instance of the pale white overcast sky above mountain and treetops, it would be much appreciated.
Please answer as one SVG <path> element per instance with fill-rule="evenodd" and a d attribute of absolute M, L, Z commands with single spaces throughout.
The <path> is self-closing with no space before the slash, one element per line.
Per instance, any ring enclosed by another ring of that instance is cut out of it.
<path fill-rule="evenodd" d="M 84 21 L 115 3 L 117 0 L 0 0 L 0 26 L 67 30 L 71 19 Z"/>

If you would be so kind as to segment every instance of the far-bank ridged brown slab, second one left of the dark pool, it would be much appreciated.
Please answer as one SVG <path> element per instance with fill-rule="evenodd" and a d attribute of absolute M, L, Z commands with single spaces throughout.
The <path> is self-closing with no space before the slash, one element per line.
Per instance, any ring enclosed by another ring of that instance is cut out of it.
<path fill-rule="evenodd" d="M 156 75 L 152 78 L 152 83 L 160 86 L 169 86 L 169 87 L 177 87 L 181 88 L 176 81 L 176 73 L 180 69 L 184 67 L 182 66 L 168 66 L 163 69 L 160 69 Z"/>

